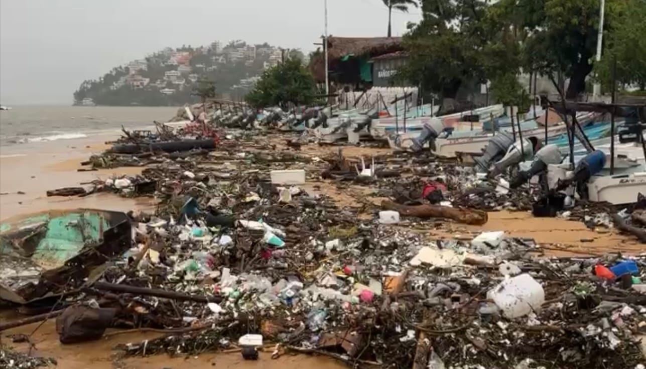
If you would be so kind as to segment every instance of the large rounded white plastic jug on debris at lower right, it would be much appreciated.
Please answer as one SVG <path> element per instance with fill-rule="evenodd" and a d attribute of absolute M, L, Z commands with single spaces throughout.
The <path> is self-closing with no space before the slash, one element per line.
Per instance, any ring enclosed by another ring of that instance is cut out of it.
<path fill-rule="evenodd" d="M 539 311 L 545 302 L 545 291 L 541 283 L 524 273 L 499 283 L 487 292 L 487 298 L 494 301 L 505 317 L 514 319 Z"/>

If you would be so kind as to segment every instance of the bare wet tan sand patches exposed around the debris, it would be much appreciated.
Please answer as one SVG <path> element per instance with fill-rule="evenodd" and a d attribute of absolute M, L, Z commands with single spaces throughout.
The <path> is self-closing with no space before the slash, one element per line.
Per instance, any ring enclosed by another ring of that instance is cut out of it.
<path fill-rule="evenodd" d="M 141 168 L 117 168 L 92 172 L 77 172 L 80 162 L 87 160 L 92 153 L 100 153 L 105 149 L 103 142 L 89 140 L 69 140 L 68 142 L 51 142 L 41 144 L 37 151 L 28 151 L 25 156 L 13 156 L 3 148 L 0 158 L 0 192 L 10 193 L 0 196 L 0 219 L 13 218 L 20 214 L 47 211 L 50 209 L 69 209 L 75 207 L 90 207 L 110 209 L 114 211 L 129 211 L 136 208 L 152 207 L 146 200 L 121 198 L 113 194 L 92 194 L 85 198 L 47 198 L 45 191 L 57 187 L 72 187 L 81 182 L 96 178 L 107 178 L 112 174 L 135 174 Z M 304 147 L 304 153 L 326 156 L 338 151 L 338 147 Z M 344 155 L 369 158 L 370 155 L 389 153 L 389 149 L 366 149 L 362 147 L 344 147 Z M 9 154 L 9 155 L 7 155 Z M 315 187 L 316 186 L 316 187 Z M 365 187 L 353 185 L 339 189 L 332 182 L 308 182 L 304 186 L 308 191 L 324 193 L 331 196 L 340 207 L 364 207 L 366 211 L 360 218 L 374 216 L 375 205 L 380 198 L 366 196 L 370 191 Z M 23 191 L 25 194 L 16 194 Z M 371 209 L 370 209 L 371 208 Z M 464 226 L 455 223 L 443 223 L 435 227 L 435 222 L 428 222 L 428 227 L 417 232 L 428 236 L 429 239 L 455 238 L 455 236 L 474 236 L 481 231 L 505 231 L 507 236 L 534 238 L 539 245 L 545 247 L 548 255 L 580 256 L 583 254 L 603 254 L 612 251 L 630 253 L 641 252 L 643 247 L 629 237 L 620 236 L 614 231 L 590 231 L 581 222 L 568 222 L 558 218 L 533 218 L 529 213 L 510 213 L 507 211 L 490 213 L 489 221 L 481 227 Z M 14 316 L 15 317 L 15 316 Z M 6 314 L 0 314 L 0 320 L 8 319 Z M 37 324 L 14 328 L 2 332 L 3 343 L 7 334 L 30 334 Z M 161 368 L 310 368 L 336 369 L 345 368 L 341 363 L 322 357 L 307 355 L 284 356 L 272 360 L 268 353 L 260 355 L 258 361 L 244 361 L 239 353 L 236 354 L 202 354 L 196 357 L 174 357 L 156 355 L 152 357 L 118 359 L 114 354 L 114 346 L 119 343 L 137 342 L 150 339 L 157 334 L 123 334 L 112 336 L 100 341 L 79 345 L 61 345 L 56 334 L 54 319 L 41 326 L 32 340 L 36 344 L 36 354 L 55 357 L 58 368 L 123 368 L 123 369 L 161 369 Z M 12 344 L 18 350 L 28 350 L 26 344 Z"/>

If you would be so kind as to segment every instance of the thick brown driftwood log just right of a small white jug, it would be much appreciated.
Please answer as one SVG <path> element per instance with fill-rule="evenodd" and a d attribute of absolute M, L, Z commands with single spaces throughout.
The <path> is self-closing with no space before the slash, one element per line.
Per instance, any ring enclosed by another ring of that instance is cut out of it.
<path fill-rule="evenodd" d="M 442 205 L 400 205 L 390 200 L 383 200 L 381 208 L 384 210 L 398 211 L 404 216 L 415 216 L 417 218 L 446 218 L 455 220 L 458 223 L 483 225 L 487 222 L 486 211 L 475 209 L 455 209 Z"/>

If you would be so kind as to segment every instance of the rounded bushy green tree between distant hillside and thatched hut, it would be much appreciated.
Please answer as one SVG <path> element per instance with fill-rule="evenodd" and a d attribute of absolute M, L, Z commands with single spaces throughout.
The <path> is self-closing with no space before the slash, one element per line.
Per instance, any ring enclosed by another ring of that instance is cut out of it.
<path fill-rule="evenodd" d="M 246 96 L 252 106 L 282 106 L 310 104 L 314 100 L 315 82 L 309 70 L 298 59 L 264 71 L 255 88 Z"/>

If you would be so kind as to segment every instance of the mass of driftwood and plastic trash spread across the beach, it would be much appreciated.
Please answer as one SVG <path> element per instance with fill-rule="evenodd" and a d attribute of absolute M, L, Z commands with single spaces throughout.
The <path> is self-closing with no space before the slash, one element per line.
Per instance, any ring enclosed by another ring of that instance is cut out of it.
<path fill-rule="evenodd" d="M 437 240 L 417 230 L 483 225 L 486 211 L 529 210 L 534 198 L 431 155 L 366 160 L 284 142 L 227 131 L 205 155 L 155 155 L 140 176 L 94 182 L 154 196 L 156 211 L 129 213 L 132 240 L 91 280 L 56 284 L 61 342 L 153 328 L 167 334 L 120 351 L 300 352 L 390 368 L 645 362 L 646 258 L 537 258 L 540 245 L 502 231 Z M 634 208 L 624 215 L 638 222 Z M 89 272 L 81 265 L 68 267 Z"/>

